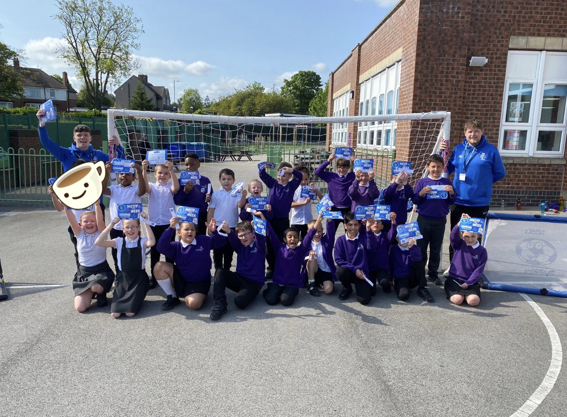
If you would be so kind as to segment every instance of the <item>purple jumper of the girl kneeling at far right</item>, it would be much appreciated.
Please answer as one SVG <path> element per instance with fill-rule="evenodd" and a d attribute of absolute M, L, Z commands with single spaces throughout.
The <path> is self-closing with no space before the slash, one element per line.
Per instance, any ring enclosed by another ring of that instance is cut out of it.
<path fill-rule="evenodd" d="M 468 246 L 459 235 L 458 224 L 451 230 L 449 241 L 455 251 L 449 267 L 449 276 L 463 280 L 469 286 L 479 282 L 488 261 L 488 253 L 484 246 L 480 244 L 476 248 Z"/>

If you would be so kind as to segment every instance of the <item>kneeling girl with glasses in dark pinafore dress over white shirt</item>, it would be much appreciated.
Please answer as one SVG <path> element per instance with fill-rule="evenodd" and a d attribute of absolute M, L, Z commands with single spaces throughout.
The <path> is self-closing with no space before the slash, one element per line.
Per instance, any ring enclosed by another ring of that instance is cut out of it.
<path fill-rule="evenodd" d="M 147 214 L 141 216 L 147 219 Z M 111 315 L 118 318 L 122 313 L 128 317 L 134 316 L 142 307 L 150 282 L 146 273 L 146 248 L 155 244 L 154 233 L 146 224 L 141 226 L 139 220 L 122 220 L 123 237 L 105 240 L 111 229 L 120 222 L 112 219 L 111 224 L 100 234 L 96 244 L 107 248 L 116 248 L 119 259 L 119 270 L 116 273 L 115 289 L 112 296 Z M 146 237 L 141 237 L 143 227 Z"/>

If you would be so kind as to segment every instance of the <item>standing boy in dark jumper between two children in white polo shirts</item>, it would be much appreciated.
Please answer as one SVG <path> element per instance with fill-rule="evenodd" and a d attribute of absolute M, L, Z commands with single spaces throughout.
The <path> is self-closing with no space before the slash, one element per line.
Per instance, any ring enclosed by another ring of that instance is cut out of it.
<path fill-rule="evenodd" d="M 185 171 L 199 171 L 201 163 L 197 154 L 187 154 L 185 155 Z M 179 182 L 179 192 L 174 195 L 174 202 L 177 206 L 185 207 L 195 207 L 199 209 L 199 217 L 197 221 L 197 233 L 199 235 L 205 235 L 207 221 L 207 211 L 208 203 L 211 201 L 211 195 L 213 193 L 213 187 L 211 185 L 211 194 L 207 192 L 207 188 L 211 181 L 208 177 L 201 175 L 199 178 L 199 185 L 193 184 L 193 181 L 188 181 L 187 184 L 181 186 L 181 180 L 175 180 Z"/>

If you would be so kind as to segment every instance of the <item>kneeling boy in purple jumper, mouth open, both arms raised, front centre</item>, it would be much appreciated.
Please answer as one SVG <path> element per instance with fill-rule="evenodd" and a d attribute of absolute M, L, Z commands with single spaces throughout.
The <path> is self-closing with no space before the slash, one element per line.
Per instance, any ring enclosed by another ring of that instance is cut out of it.
<path fill-rule="evenodd" d="M 261 215 L 263 217 L 263 215 Z M 311 241 L 315 235 L 315 229 L 310 229 L 299 245 L 299 231 L 295 227 L 289 227 L 284 231 L 282 242 L 272 226 L 266 224 L 266 234 L 274 252 L 276 252 L 276 269 L 274 269 L 273 284 L 264 290 L 263 295 L 269 305 L 288 306 L 293 304 L 303 287 L 304 279 L 301 276 L 303 259 L 311 250 Z"/>

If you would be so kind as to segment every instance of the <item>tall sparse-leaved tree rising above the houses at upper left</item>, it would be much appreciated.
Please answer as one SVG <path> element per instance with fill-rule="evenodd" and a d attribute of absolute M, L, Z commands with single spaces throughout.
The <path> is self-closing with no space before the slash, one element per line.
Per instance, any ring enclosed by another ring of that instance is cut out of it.
<path fill-rule="evenodd" d="M 66 41 L 58 52 L 77 69 L 88 99 L 100 109 L 109 80 L 119 81 L 138 67 L 132 52 L 139 49 L 142 21 L 132 7 L 110 0 L 61 0 L 58 7 L 53 17 L 63 25 Z"/>

